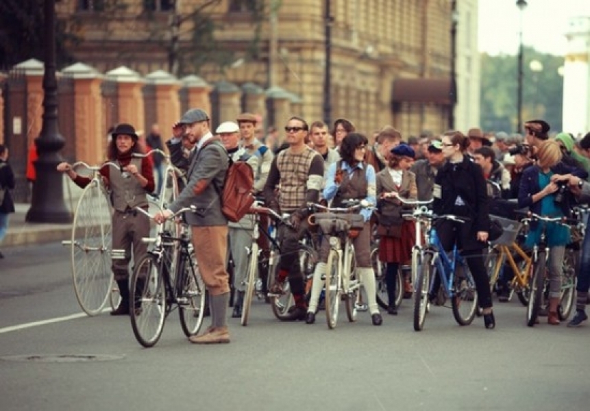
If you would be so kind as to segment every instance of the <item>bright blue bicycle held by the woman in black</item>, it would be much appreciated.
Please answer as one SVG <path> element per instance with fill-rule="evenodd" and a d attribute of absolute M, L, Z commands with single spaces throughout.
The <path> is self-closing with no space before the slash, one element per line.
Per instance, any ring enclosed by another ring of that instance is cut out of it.
<path fill-rule="evenodd" d="M 428 215 L 428 214 L 427 214 Z M 465 219 L 446 214 L 437 216 L 430 214 L 428 241 L 423 246 L 423 258 L 418 267 L 414 289 L 414 329 L 421 331 L 426 319 L 426 312 L 430 304 L 430 295 L 438 290 L 431 290 L 434 279 L 438 273 L 441 279 L 441 288 L 451 301 L 453 316 L 459 325 L 469 325 L 474 320 L 478 307 L 478 294 L 476 282 L 465 258 L 460 255 L 457 246 L 454 245 L 450 255 L 444 251 L 434 221 L 449 220 L 465 223 Z"/>

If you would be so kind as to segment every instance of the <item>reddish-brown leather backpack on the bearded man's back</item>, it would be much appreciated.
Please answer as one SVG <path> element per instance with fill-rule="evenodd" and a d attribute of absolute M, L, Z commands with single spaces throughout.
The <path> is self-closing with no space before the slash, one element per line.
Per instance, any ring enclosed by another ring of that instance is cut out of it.
<path fill-rule="evenodd" d="M 232 223 L 240 221 L 254 204 L 254 171 L 247 163 L 248 158 L 249 155 L 242 155 L 237 161 L 230 158 L 230 166 L 221 189 L 213 182 L 221 199 L 221 212 Z"/>

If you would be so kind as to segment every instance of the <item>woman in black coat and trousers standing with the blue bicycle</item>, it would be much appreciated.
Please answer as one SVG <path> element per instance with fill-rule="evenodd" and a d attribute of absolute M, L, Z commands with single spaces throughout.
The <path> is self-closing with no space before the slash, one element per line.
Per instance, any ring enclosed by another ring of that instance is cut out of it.
<path fill-rule="evenodd" d="M 486 182 L 481 167 L 465 154 L 469 138 L 461 132 L 447 132 L 441 145 L 447 162 L 434 180 L 432 208 L 439 215 L 454 214 L 469 220 L 465 223 L 441 220 L 437 223 L 437 234 L 445 251 L 451 251 L 455 243 L 463 250 L 476 282 L 485 327 L 493 329 L 491 291 L 482 255 L 490 225 Z M 438 289 L 436 284 L 434 290 Z"/>

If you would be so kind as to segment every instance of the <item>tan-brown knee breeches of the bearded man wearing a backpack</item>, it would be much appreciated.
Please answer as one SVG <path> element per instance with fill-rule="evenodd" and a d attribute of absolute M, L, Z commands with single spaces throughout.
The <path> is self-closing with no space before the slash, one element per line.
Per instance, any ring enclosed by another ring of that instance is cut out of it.
<path fill-rule="evenodd" d="M 199 272 L 210 295 L 230 292 L 230 275 L 226 270 L 228 226 L 191 227 Z"/>

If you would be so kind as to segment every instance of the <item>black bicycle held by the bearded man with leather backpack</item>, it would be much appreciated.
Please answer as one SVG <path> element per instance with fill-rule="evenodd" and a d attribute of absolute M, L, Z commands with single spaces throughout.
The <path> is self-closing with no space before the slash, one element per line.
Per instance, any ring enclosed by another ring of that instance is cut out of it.
<path fill-rule="evenodd" d="M 150 219 L 153 215 L 143 210 Z M 183 208 L 170 219 L 183 212 Z M 164 224 L 158 225 L 156 238 L 143 238 L 153 244 L 135 266 L 130 284 L 130 318 L 133 334 L 143 347 L 158 343 L 168 314 L 177 307 L 184 335 L 199 332 L 205 312 L 205 285 L 190 242 L 188 225 L 183 224 L 180 236 L 169 232 Z"/>

